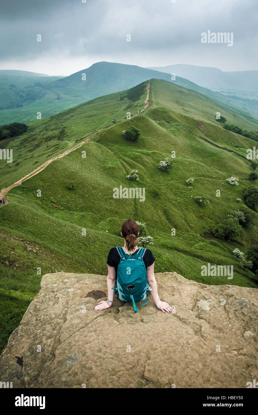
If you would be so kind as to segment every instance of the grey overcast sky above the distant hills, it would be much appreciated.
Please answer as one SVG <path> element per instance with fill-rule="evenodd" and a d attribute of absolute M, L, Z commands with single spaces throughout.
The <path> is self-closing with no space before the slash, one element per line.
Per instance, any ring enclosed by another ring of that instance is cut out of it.
<path fill-rule="evenodd" d="M 0 69 L 67 76 L 109 61 L 253 70 L 257 21 L 257 0 L 1 0 Z M 202 44 L 208 30 L 233 32 L 233 46 Z"/>

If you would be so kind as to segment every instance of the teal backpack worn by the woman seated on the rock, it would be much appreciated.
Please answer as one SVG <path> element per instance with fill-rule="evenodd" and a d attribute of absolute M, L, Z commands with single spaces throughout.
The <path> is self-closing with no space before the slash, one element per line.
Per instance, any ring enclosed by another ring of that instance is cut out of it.
<path fill-rule="evenodd" d="M 142 260 L 146 248 L 141 248 L 138 254 L 126 254 L 122 247 L 117 247 L 120 255 L 120 262 L 117 267 L 117 281 L 112 290 L 116 290 L 117 297 L 122 301 L 131 301 L 134 305 L 134 311 L 138 308 L 135 301 L 140 302 L 148 297 L 148 291 L 151 291 L 147 282 L 146 267 Z"/>

